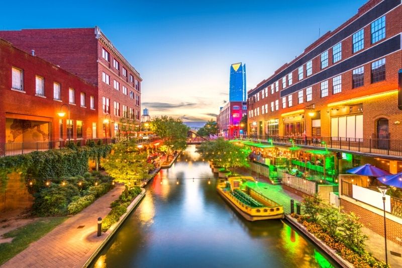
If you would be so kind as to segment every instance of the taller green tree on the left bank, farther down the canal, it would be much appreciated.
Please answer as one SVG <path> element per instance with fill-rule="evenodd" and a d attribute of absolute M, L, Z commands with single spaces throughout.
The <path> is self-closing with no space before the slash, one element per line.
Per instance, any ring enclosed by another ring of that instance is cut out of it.
<path fill-rule="evenodd" d="M 175 150 L 184 150 L 187 146 L 187 132 L 189 128 L 178 118 L 162 115 L 151 121 L 151 130 L 163 140 L 167 147 L 166 155 Z"/>

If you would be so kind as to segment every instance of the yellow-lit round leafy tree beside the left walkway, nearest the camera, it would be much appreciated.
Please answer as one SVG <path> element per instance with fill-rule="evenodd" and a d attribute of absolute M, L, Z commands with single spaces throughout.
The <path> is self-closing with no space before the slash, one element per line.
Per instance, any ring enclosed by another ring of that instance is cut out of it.
<path fill-rule="evenodd" d="M 115 144 L 103 166 L 116 181 L 130 186 L 148 178 L 148 172 L 153 168 L 147 162 L 147 154 L 138 151 L 134 139 Z"/>

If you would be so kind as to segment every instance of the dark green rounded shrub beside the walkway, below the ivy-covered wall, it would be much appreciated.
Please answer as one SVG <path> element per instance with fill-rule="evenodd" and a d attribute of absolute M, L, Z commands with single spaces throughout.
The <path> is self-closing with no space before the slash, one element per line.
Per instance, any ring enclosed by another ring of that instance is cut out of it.
<path fill-rule="evenodd" d="M 67 215 L 68 204 L 76 196 L 79 196 L 79 191 L 73 184 L 51 184 L 34 194 L 33 214 L 41 217 Z"/>

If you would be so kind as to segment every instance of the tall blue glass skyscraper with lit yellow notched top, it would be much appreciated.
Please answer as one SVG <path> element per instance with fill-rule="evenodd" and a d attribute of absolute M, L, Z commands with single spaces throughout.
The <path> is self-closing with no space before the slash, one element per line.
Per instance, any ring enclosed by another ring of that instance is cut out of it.
<path fill-rule="evenodd" d="M 229 101 L 246 101 L 246 64 L 230 66 Z"/>

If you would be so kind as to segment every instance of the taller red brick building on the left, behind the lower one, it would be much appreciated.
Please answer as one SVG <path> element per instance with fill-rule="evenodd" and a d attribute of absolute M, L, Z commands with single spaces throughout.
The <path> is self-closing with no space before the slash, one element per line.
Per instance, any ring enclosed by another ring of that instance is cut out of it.
<path fill-rule="evenodd" d="M 121 118 L 140 122 L 140 74 L 98 27 L 0 31 L 0 38 L 98 86 L 98 138 L 110 129 L 118 135 Z M 110 119 L 112 125 L 104 123 Z"/>

